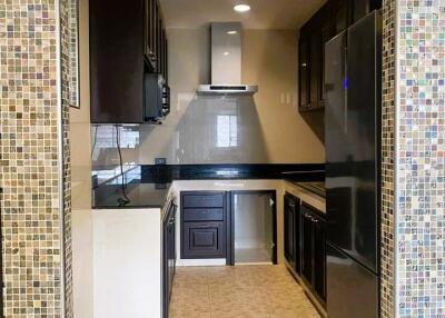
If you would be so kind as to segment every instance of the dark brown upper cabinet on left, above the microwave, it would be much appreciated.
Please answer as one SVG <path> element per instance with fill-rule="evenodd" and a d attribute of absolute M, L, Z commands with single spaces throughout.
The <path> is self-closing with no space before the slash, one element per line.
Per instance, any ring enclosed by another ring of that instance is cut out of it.
<path fill-rule="evenodd" d="M 91 0 L 89 14 L 91 122 L 146 122 L 146 74 L 159 73 L 161 89 L 167 86 L 167 36 L 158 1 Z"/>

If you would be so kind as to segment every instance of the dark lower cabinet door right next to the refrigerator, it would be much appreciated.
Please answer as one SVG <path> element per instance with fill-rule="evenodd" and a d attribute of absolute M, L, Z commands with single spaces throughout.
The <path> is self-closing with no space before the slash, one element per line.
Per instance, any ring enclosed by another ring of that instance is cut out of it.
<path fill-rule="evenodd" d="M 314 218 L 314 290 L 326 301 L 326 223 Z"/>

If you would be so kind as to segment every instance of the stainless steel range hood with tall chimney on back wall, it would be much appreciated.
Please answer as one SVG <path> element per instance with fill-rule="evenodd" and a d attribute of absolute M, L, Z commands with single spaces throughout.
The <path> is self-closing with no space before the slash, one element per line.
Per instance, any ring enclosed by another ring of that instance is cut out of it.
<path fill-rule="evenodd" d="M 243 26 L 211 23 L 211 85 L 200 85 L 200 95 L 254 95 L 257 86 L 241 85 Z"/>

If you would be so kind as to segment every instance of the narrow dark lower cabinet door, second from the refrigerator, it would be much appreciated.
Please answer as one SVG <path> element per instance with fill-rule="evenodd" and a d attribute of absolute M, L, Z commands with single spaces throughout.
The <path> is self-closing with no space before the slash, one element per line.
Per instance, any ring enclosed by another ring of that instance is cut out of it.
<path fill-rule="evenodd" d="M 313 219 L 306 208 L 301 207 L 301 276 L 313 285 Z"/>

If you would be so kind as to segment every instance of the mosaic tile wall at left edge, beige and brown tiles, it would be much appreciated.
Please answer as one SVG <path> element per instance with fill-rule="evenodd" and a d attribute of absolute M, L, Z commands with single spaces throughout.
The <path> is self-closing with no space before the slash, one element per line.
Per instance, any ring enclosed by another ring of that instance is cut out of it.
<path fill-rule="evenodd" d="M 67 222 L 70 195 L 69 187 L 59 195 L 57 9 L 55 0 L 0 1 L 4 317 L 62 316 L 59 205 L 65 198 Z M 69 169 L 65 176 L 69 185 Z"/>

